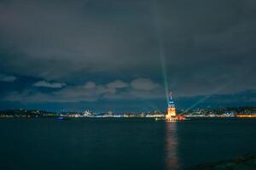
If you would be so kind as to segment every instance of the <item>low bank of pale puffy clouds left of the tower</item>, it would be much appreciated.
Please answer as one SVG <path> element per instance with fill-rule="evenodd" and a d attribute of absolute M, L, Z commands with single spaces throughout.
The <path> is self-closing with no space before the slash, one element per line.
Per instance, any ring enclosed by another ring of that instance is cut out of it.
<path fill-rule="evenodd" d="M 86 82 L 84 85 L 66 86 L 61 82 L 40 81 L 33 84 L 37 87 L 56 88 L 45 94 L 36 90 L 13 92 L 3 100 L 22 102 L 79 102 L 98 99 L 155 99 L 164 97 L 162 86 L 147 78 L 137 78 L 131 82 L 116 80 L 106 84 Z M 57 89 L 61 88 L 61 89 Z"/>

